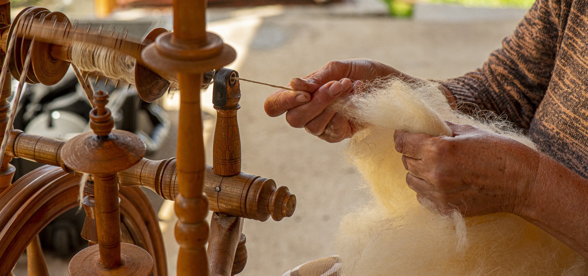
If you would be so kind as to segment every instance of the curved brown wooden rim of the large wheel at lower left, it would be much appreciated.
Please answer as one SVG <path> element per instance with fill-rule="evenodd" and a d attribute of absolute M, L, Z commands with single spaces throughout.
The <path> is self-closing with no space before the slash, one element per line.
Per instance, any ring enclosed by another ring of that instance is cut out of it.
<path fill-rule="evenodd" d="M 45 165 L 26 174 L 0 195 L 0 274 L 8 274 L 26 246 L 63 212 L 78 205 L 79 176 Z M 151 254 L 153 275 L 167 275 L 163 238 L 155 212 L 138 187 L 121 187 L 121 224 Z M 152 210 L 152 209 L 151 209 Z M 17 238 L 18 236 L 18 238 Z"/>

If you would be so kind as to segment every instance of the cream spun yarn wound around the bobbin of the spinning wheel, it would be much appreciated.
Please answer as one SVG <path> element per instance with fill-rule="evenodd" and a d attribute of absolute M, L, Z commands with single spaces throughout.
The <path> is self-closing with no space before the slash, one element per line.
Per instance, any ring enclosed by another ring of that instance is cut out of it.
<path fill-rule="evenodd" d="M 135 84 L 136 59 L 132 56 L 83 42 L 72 42 L 70 51 L 71 62 L 79 69 Z"/>

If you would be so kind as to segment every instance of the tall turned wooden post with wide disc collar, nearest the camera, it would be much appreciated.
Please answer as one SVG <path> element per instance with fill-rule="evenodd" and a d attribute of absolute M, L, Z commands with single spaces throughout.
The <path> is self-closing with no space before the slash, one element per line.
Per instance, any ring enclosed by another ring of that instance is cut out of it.
<path fill-rule="evenodd" d="M 178 215 L 175 234 L 180 245 L 178 275 L 209 275 L 208 199 L 203 195 L 205 171 L 200 88 L 204 72 L 235 59 L 235 50 L 218 35 L 206 32 L 205 0 L 173 1 L 173 32 L 158 36 L 141 57 L 146 64 L 178 74 Z"/>

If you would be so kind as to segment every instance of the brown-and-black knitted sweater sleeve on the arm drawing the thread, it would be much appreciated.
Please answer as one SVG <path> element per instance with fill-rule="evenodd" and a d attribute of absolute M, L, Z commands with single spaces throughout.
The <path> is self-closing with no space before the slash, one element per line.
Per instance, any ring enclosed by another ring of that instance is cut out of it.
<path fill-rule="evenodd" d="M 562 11 L 556 2 L 537 0 L 482 68 L 442 81 L 463 101 L 461 111 L 489 110 L 506 115 L 519 128 L 529 128 L 549 85 L 565 26 L 558 18 Z"/>

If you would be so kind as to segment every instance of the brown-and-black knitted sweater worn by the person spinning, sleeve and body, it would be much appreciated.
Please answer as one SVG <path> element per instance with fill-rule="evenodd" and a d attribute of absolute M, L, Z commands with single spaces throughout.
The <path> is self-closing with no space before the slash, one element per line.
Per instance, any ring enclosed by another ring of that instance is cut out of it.
<path fill-rule="evenodd" d="M 482 68 L 442 83 L 588 178 L 588 0 L 537 0 Z"/>

